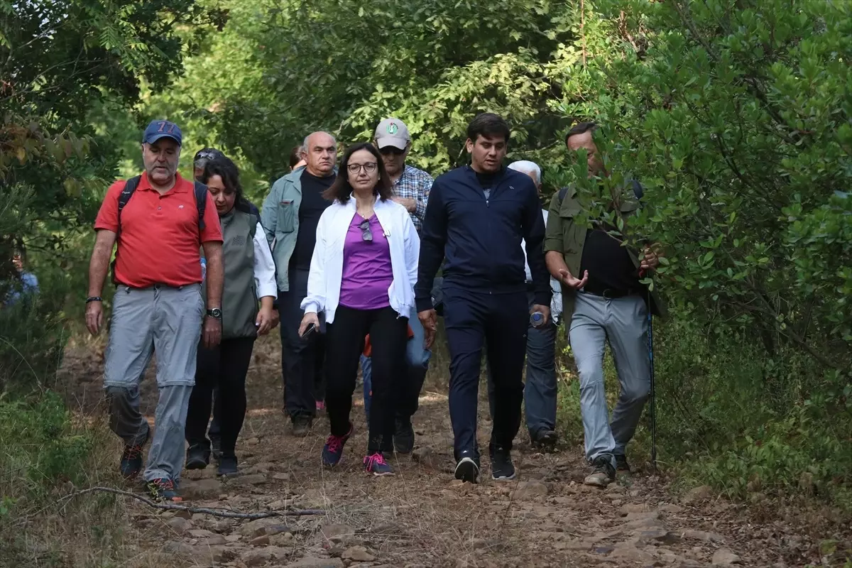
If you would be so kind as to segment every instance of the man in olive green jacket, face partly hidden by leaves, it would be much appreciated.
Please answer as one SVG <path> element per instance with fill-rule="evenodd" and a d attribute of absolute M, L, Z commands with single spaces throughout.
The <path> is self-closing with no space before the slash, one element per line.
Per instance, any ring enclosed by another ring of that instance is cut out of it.
<path fill-rule="evenodd" d="M 592 138 L 594 129 L 594 123 L 579 123 L 566 136 L 569 151 L 586 150 L 590 177 L 607 175 Z M 617 205 L 625 219 L 639 208 L 639 200 L 628 189 Z M 641 273 L 659 265 L 656 253 L 646 249 L 639 261 L 635 251 L 613 236 L 618 233 L 614 227 L 596 222 L 590 228 L 575 221 L 581 210 L 574 187 L 553 196 L 544 251 L 548 270 L 562 284 L 563 314 L 579 372 L 585 453 L 592 465 L 585 483 L 605 486 L 616 470 L 630 471 L 625 445 L 636 432 L 650 387 L 648 309 L 662 315 L 664 308 L 640 282 Z M 603 384 L 607 341 L 621 383 L 612 422 Z"/>

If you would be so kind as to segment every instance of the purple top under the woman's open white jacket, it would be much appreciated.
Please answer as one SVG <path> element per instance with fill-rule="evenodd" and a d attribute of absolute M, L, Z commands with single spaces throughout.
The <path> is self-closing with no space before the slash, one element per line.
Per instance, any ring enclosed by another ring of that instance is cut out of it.
<path fill-rule="evenodd" d="M 394 281 L 390 265 L 390 247 L 382 224 L 370 217 L 372 240 L 364 240 L 359 227 L 364 217 L 357 213 L 349 223 L 343 241 L 343 281 L 340 283 L 340 305 L 357 310 L 389 307 L 388 289 Z"/>

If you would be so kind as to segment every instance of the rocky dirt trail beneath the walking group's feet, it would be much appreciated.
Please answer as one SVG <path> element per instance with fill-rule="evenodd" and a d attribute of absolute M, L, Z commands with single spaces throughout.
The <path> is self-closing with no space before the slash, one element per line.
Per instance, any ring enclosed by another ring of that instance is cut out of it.
<path fill-rule="evenodd" d="M 636 473 L 599 490 L 582 485 L 579 448 L 532 450 L 526 434 L 515 450 L 517 479 L 480 485 L 452 479 L 446 394 L 425 389 L 415 416 L 416 450 L 394 456 L 397 474 L 364 473 L 362 406 L 340 467 L 320 467 L 328 422 L 307 438 L 291 436 L 280 412 L 277 341 L 265 340 L 250 370 L 250 410 L 238 444 L 241 474 L 217 479 L 215 467 L 185 472 L 182 504 L 263 512 L 319 508 L 325 514 L 274 519 L 218 519 L 163 511 L 129 501 L 139 531 L 131 565 L 158 566 L 792 566 L 813 549 L 785 523 L 756 525 L 746 509 L 705 488 L 676 499 L 664 479 Z M 101 396 L 97 364 L 69 359 L 68 395 L 83 408 Z M 153 379 L 153 377 L 152 377 Z M 156 387 L 147 380 L 144 411 L 153 416 Z M 360 390 L 356 393 L 360 403 Z M 481 416 L 486 404 L 481 402 Z M 480 444 L 490 423 L 481 418 Z"/>

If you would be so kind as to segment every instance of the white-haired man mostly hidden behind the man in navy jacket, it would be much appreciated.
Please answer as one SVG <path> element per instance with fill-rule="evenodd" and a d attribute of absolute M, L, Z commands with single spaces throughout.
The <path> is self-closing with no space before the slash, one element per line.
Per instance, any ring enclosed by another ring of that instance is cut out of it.
<path fill-rule="evenodd" d="M 535 162 L 518 160 L 508 166 L 533 179 L 539 195 L 541 194 L 541 168 Z M 544 223 L 547 223 L 547 209 L 542 209 Z M 527 256 L 526 243 L 521 240 L 524 257 Z M 533 277 L 529 264 L 527 272 L 527 296 L 533 306 Z M 562 293 L 559 281 L 550 278 L 553 299 L 550 301 L 550 319 L 543 325 L 529 326 L 527 330 L 527 385 L 524 387 L 524 408 L 527 414 L 527 431 L 533 445 L 543 450 L 553 450 L 558 436 L 556 434 L 556 326 L 562 313 Z M 494 416 L 494 382 L 491 367 L 488 368 L 488 405 Z"/>

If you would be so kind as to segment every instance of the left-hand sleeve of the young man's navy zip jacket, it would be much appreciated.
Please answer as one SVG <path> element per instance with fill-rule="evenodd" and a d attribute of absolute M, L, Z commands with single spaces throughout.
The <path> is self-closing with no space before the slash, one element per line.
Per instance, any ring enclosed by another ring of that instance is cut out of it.
<path fill-rule="evenodd" d="M 423 228 L 420 231 L 420 259 L 417 265 L 417 284 L 414 285 L 414 301 L 417 312 L 431 309 L 432 284 L 441 261 L 444 260 L 446 244 L 446 209 L 440 177 L 432 184 Z"/>

